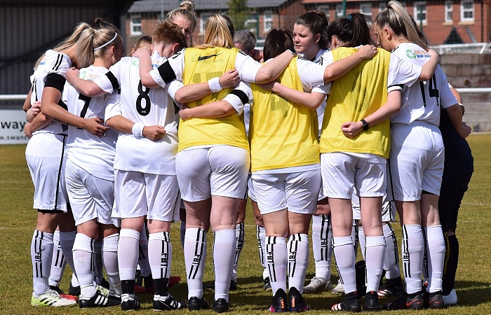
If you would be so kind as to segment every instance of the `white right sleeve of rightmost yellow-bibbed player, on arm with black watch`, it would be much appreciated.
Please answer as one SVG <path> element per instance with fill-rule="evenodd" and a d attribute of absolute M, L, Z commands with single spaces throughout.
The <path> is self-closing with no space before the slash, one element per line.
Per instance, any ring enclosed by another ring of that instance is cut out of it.
<path fill-rule="evenodd" d="M 389 62 L 389 76 L 387 78 L 387 87 L 393 85 L 411 86 L 416 83 L 421 74 L 422 67 L 405 62 L 403 59 L 391 54 Z"/>

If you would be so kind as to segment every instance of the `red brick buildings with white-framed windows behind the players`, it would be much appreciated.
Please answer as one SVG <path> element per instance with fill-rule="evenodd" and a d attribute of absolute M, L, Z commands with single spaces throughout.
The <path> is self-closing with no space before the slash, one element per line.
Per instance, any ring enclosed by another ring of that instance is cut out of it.
<path fill-rule="evenodd" d="M 128 10 L 126 31 L 128 48 L 142 34 L 152 34 L 155 23 L 177 8 L 180 0 L 135 1 Z M 198 25 L 193 34 L 195 44 L 201 43 L 206 19 L 217 12 L 227 12 L 229 0 L 195 0 Z M 386 8 L 385 0 L 347 0 L 347 14 L 361 12 L 375 18 Z M 431 45 L 444 43 L 482 43 L 491 41 L 491 0 L 428 0 L 403 1 L 410 15 Z M 247 27 L 258 38 L 264 38 L 271 27 L 292 29 L 295 19 L 308 10 L 324 10 L 330 20 L 343 15 L 339 0 L 248 0 L 250 18 Z"/>

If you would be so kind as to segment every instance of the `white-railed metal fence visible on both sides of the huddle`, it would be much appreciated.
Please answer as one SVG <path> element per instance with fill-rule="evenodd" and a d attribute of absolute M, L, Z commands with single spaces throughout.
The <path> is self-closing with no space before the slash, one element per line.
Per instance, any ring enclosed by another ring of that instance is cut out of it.
<path fill-rule="evenodd" d="M 491 87 L 457 88 L 462 94 L 462 104 L 466 112 L 463 120 L 472 127 L 473 132 L 491 132 Z M 11 101 L 11 105 L 1 109 L 22 109 L 26 94 L 0 95 L 0 102 Z"/>

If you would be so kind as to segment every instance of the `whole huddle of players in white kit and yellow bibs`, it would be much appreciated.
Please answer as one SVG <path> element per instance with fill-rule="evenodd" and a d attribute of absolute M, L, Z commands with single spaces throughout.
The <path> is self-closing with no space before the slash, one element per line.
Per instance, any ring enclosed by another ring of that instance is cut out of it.
<path fill-rule="evenodd" d="M 248 198 L 270 311 L 307 311 L 304 293 L 331 290 L 332 253 L 334 292 L 344 293 L 334 311 L 457 304 L 470 128 L 401 3 L 389 2 L 371 25 L 361 13 L 332 22 L 304 13 L 292 31 L 271 29 L 262 52 L 221 14 L 207 20 L 203 45 L 190 47 L 193 6 L 182 1 L 129 57 L 119 29 L 96 19 L 36 63 L 24 106 L 38 209 L 32 305 L 130 311 L 140 308 L 135 293 L 153 292 L 155 310 L 209 309 L 211 228 L 211 308 L 229 311 Z M 169 292 L 178 281 L 170 276 L 176 221 L 187 302 Z M 304 286 L 311 221 L 316 276 Z M 74 271 L 69 295 L 58 287 L 64 261 Z M 396 300 L 379 305 L 389 295 Z"/>

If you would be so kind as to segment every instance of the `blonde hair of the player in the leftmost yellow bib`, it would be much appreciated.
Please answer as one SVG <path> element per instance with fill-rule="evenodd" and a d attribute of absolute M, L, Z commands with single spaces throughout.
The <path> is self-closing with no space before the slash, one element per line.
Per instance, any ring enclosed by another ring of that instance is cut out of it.
<path fill-rule="evenodd" d="M 203 45 L 196 48 L 224 47 L 232 48 L 234 45 L 234 23 L 227 15 L 213 14 L 205 25 Z"/>

